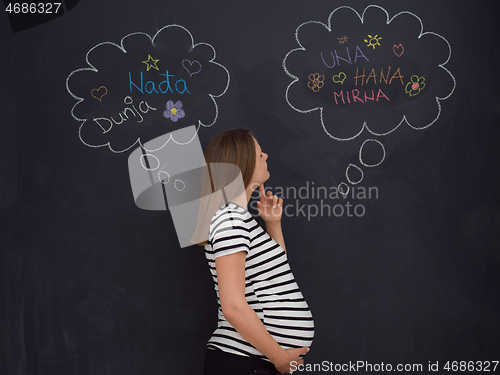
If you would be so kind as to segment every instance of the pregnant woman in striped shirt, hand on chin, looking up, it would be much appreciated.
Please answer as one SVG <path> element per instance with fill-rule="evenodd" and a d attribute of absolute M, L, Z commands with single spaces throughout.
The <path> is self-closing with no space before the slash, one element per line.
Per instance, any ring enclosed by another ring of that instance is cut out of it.
<path fill-rule="evenodd" d="M 208 241 L 199 243 L 205 246 L 219 306 L 205 375 L 288 373 L 291 364 L 303 363 L 312 343 L 312 314 L 288 264 L 281 231 L 283 199 L 264 190 L 267 158 L 243 129 L 219 134 L 205 151 L 207 165 L 238 166 L 245 190 L 218 208 Z M 247 211 L 256 189 L 266 231 Z"/>

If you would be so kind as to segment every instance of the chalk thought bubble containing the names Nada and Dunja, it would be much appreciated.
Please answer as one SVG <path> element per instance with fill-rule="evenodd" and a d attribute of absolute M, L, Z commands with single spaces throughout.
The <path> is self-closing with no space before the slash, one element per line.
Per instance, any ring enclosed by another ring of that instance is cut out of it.
<path fill-rule="evenodd" d="M 195 125 L 198 132 L 201 126 L 213 125 L 216 98 L 230 81 L 215 57 L 214 47 L 195 44 L 180 25 L 165 26 L 152 37 L 133 33 L 119 44 L 92 47 L 86 54 L 88 67 L 66 79 L 68 92 L 77 100 L 71 114 L 81 122 L 80 140 L 118 153 L 187 126 Z"/>

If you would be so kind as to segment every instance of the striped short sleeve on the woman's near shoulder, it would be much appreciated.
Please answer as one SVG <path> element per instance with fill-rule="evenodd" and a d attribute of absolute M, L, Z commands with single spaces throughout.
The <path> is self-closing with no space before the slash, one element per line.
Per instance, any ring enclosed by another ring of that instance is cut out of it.
<path fill-rule="evenodd" d="M 241 213 L 226 211 L 213 223 L 210 242 L 214 258 L 250 251 L 250 229 Z"/>

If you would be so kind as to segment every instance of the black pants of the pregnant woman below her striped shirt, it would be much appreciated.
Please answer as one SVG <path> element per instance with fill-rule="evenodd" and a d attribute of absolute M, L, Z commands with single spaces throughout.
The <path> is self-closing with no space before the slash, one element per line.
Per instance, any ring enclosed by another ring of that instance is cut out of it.
<path fill-rule="evenodd" d="M 258 357 L 207 349 L 203 375 L 276 375 L 278 370 L 271 362 Z"/>

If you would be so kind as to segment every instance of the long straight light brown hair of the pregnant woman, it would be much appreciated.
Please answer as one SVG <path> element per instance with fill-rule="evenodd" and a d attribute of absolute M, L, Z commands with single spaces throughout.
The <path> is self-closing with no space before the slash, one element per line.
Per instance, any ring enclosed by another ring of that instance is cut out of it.
<path fill-rule="evenodd" d="M 241 171 L 245 189 L 250 184 L 255 169 L 257 155 L 255 153 L 255 136 L 250 130 L 228 129 L 210 140 L 205 150 L 205 162 L 208 173 L 202 176 L 202 197 L 212 195 L 213 192 L 222 192 L 224 202 L 227 202 L 227 182 L 235 179 L 234 166 Z M 224 164 L 215 164 L 224 163 Z M 212 165 L 212 167 L 211 167 Z M 214 165 L 222 166 L 217 171 Z M 226 165 L 227 167 L 224 167 Z M 231 168 L 230 166 L 233 166 Z M 229 193 L 230 194 L 230 193 Z M 228 194 L 228 195 L 229 195 Z M 191 239 L 192 243 L 204 246 L 210 228 L 210 221 L 221 206 L 221 200 L 207 199 L 200 203 L 200 211 L 196 231 Z M 200 239 L 205 239 L 200 241 Z"/>

